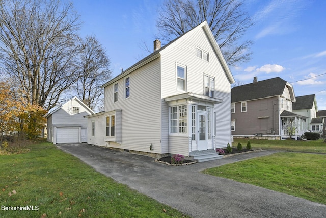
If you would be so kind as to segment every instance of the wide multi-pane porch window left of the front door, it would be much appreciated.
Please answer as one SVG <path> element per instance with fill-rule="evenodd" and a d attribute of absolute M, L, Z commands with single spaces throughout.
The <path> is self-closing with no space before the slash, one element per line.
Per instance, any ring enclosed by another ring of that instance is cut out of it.
<path fill-rule="evenodd" d="M 170 107 L 170 133 L 187 133 L 187 106 Z"/>

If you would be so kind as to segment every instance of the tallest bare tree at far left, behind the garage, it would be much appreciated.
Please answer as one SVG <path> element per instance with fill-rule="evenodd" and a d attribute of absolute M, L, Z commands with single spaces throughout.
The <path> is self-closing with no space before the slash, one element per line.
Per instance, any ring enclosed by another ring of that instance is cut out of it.
<path fill-rule="evenodd" d="M 59 0 L 0 0 L 0 67 L 49 110 L 75 81 L 78 14 Z"/>

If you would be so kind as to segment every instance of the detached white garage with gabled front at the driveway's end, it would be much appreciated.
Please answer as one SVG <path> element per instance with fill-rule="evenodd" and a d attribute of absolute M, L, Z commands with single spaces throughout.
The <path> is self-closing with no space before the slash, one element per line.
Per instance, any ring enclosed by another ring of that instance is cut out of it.
<path fill-rule="evenodd" d="M 94 114 L 77 97 L 47 114 L 47 140 L 57 143 L 87 142 L 87 118 Z"/>

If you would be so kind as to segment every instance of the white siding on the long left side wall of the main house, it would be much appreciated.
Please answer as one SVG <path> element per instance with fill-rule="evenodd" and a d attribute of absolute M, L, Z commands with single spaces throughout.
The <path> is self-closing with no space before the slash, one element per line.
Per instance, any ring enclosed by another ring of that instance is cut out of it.
<path fill-rule="evenodd" d="M 175 76 L 175 70 L 173 70 L 172 75 Z M 124 91 L 118 91 L 119 101 L 113 103 L 113 84 L 106 86 L 104 89 L 105 111 L 116 111 L 116 143 L 111 142 L 110 147 L 161 153 L 161 101 L 164 100 L 160 97 L 161 85 L 159 58 L 131 72 L 126 77 L 130 78 L 131 88 L 130 98 L 128 100 L 120 101 L 120 99 L 124 99 L 125 93 Z M 124 79 L 126 77 L 117 81 L 119 90 L 125 88 Z M 120 121 L 118 120 L 118 109 L 121 110 Z M 166 110 L 168 110 L 168 107 Z M 121 123 L 120 133 L 117 126 L 119 122 Z M 166 128 L 166 130 L 169 131 L 168 125 Z M 105 124 L 102 125 L 101 129 L 104 131 Z M 121 138 L 120 144 L 118 143 L 119 137 Z M 150 144 L 153 145 L 153 151 L 150 150 Z"/>

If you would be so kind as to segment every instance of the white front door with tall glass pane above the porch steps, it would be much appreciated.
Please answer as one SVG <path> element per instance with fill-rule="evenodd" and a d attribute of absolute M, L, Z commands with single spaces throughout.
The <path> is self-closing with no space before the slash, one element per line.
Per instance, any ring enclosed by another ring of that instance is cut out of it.
<path fill-rule="evenodd" d="M 205 112 L 198 112 L 198 150 L 207 150 L 207 115 Z"/>

